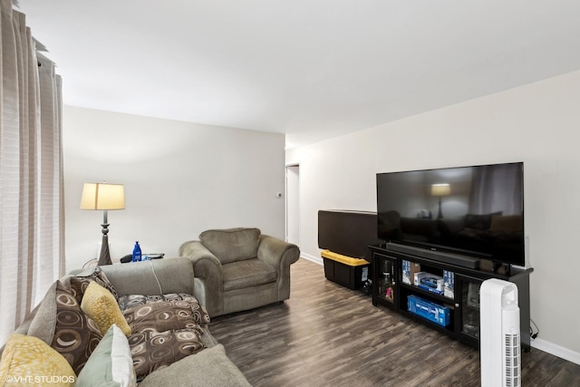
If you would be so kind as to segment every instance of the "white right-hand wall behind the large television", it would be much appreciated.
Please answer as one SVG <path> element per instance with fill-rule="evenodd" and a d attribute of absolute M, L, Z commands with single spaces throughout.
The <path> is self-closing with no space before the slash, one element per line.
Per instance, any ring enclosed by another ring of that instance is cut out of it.
<path fill-rule="evenodd" d="M 575 72 L 287 150 L 300 163 L 301 249 L 320 256 L 319 209 L 376 211 L 376 173 L 524 161 L 532 345 L 580 363 L 579 130 Z"/>

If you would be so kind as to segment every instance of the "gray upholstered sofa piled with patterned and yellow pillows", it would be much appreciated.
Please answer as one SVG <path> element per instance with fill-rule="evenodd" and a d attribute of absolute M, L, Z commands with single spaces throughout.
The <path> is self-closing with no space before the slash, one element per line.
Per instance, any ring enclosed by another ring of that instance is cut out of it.
<path fill-rule="evenodd" d="M 131 297 L 123 297 L 128 295 L 148 295 L 153 299 L 169 294 L 195 295 L 193 266 L 186 257 L 102 266 L 101 270 L 114 287 L 120 303 L 121 299 L 133 302 Z M 65 276 L 59 283 L 55 283 L 41 304 L 29 314 L 15 333 L 34 335 L 44 343 L 54 345 L 55 327 L 58 324 L 56 316 L 58 287 L 62 287 L 61 284 L 73 284 L 74 278 L 87 276 L 90 278 L 91 274 L 76 273 L 75 276 Z M 202 314 L 205 313 L 203 308 L 200 308 L 200 311 Z M 249 386 L 244 374 L 227 358 L 224 347 L 209 333 L 208 325 L 201 324 L 200 328 L 200 339 L 205 349 L 150 372 L 140 382 L 140 386 Z M 130 343 L 131 337 L 132 335 L 129 338 Z"/>

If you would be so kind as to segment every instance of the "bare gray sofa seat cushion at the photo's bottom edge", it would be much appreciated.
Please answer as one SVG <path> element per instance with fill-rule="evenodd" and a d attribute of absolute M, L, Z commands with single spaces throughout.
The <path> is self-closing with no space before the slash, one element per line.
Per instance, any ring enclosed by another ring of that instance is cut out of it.
<path fill-rule="evenodd" d="M 222 344 L 188 356 L 162 370 L 151 373 L 139 387 L 250 387 L 244 374 L 227 358 Z"/>

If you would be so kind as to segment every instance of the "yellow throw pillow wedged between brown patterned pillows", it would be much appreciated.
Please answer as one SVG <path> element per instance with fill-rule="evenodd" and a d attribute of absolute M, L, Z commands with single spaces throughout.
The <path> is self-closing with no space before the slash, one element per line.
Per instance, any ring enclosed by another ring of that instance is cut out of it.
<path fill-rule="evenodd" d="M 103 335 L 107 333 L 112 324 L 117 324 L 123 334 L 127 336 L 131 334 L 131 327 L 121 313 L 117 300 L 102 285 L 92 282 L 87 286 L 84 295 L 82 295 L 81 309 L 99 326 Z"/>

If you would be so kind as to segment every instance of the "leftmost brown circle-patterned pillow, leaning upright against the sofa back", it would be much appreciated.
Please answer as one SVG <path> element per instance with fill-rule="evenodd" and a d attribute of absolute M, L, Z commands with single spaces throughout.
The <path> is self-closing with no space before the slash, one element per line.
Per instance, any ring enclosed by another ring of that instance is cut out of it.
<path fill-rule="evenodd" d="M 97 324 L 82 313 L 73 294 L 57 281 L 56 327 L 51 347 L 64 356 L 78 375 L 101 339 Z"/>

